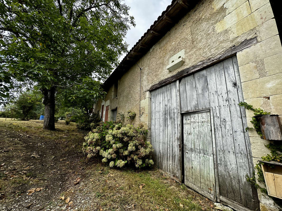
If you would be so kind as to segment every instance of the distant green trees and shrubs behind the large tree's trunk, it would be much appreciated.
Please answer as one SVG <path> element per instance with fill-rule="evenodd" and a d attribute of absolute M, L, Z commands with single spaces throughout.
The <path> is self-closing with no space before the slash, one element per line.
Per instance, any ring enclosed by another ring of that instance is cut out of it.
<path fill-rule="evenodd" d="M 94 101 L 91 97 L 84 98 L 84 95 L 81 95 L 76 96 L 76 99 L 67 100 L 65 96 L 65 92 L 55 96 L 55 122 L 68 120 L 78 123 L 77 127 L 81 130 L 90 130 L 91 123 L 101 120 L 99 115 L 92 115 Z M 45 115 L 43 98 L 41 91 L 34 86 L 32 90 L 19 93 L 9 104 L 0 107 L 0 117 L 39 120 L 40 115 Z"/>

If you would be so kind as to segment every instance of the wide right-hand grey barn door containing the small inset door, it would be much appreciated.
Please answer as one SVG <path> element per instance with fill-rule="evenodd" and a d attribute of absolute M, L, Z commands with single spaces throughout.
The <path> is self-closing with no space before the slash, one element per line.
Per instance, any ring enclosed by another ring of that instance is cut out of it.
<path fill-rule="evenodd" d="M 245 178 L 252 175 L 254 167 L 244 131 L 245 110 L 238 105 L 241 101 L 235 56 L 181 80 L 184 178 L 188 186 L 207 197 L 216 196 L 237 210 L 255 210 L 257 191 Z"/>

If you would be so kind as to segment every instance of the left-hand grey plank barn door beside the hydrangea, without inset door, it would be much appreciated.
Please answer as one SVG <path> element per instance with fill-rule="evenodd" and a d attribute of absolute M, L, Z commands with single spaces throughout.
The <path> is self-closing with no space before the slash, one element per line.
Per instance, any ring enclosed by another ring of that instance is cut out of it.
<path fill-rule="evenodd" d="M 151 92 L 151 143 L 155 165 L 182 180 L 179 82 Z"/>

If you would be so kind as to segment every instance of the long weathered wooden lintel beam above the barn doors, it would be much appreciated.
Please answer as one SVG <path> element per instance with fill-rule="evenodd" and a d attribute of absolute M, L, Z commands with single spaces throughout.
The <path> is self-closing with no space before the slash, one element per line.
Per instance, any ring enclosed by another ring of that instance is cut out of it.
<path fill-rule="evenodd" d="M 149 89 L 147 89 L 146 91 L 153 91 L 155 89 L 158 89 L 162 86 L 165 86 L 167 84 L 170 84 L 176 80 L 179 80 L 183 77 L 186 77 L 188 75 L 191 75 L 195 72 L 198 72 L 198 71 L 201 71 L 202 69 L 205 69 L 209 66 L 212 66 L 212 65 L 215 65 L 217 64 L 218 62 L 224 60 L 224 59 L 227 59 L 231 56 L 234 56 L 236 55 L 236 53 L 238 51 L 241 51 L 245 48 L 248 48 L 254 44 L 257 43 L 257 38 L 254 37 L 254 38 L 251 38 L 251 39 L 248 39 L 248 40 L 244 40 L 243 42 L 241 42 L 239 45 L 237 46 L 233 46 L 231 48 L 229 48 L 228 50 L 226 50 L 222 55 L 219 55 L 219 56 L 216 56 L 216 57 L 213 57 L 211 59 L 208 59 L 208 60 L 205 60 L 205 61 L 202 61 L 202 62 L 199 62 L 198 64 L 194 65 L 194 66 L 191 66 L 189 68 L 186 68 L 186 69 L 183 69 L 181 71 L 179 71 L 178 73 L 176 73 L 175 75 L 172 75 L 168 78 L 165 78 L 163 80 L 161 80 L 160 82 L 158 82 L 157 84 L 154 84 L 153 86 L 151 86 Z"/>

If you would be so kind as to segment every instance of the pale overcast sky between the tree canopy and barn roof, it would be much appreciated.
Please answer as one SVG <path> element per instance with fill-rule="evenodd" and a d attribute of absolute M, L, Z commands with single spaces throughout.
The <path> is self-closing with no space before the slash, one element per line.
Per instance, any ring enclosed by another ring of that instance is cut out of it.
<path fill-rule="evenodd" d="M 125 39 L 129 44 L 128 50 L 130 50 L 162 14 L 162 11 L 171 4 L 171 0 L 124 0 L 124 3 L 130 6 L 129 15 L 134 17 L 136 23 L 136 26 L 132 26 L 127 32 Z"/>

